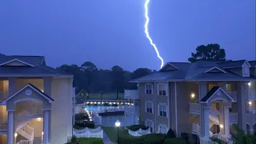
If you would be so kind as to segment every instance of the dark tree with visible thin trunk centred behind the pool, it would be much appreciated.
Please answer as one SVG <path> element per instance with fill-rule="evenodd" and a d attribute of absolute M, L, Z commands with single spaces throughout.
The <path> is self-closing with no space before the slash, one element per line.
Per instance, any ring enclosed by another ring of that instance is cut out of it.
<path fill-rule="evenodd" d="M 111 75 L 113 78 L 112 88 L 116 90 L 117 99 L 118 99 L 118 94 L 120 90 L 123 90 L 124 88 L 124 75 L 123 75 L 124 71 L 120 66 L 113 66 L 111 70 L 112 70 Z"/>

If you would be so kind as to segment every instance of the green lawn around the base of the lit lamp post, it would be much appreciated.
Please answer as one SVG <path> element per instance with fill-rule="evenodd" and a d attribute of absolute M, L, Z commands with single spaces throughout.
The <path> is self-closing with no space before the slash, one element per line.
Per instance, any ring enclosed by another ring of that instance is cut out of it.
<path fill-rule="evenodd" d="M 125 130 L 125 127 L 110 127 L 110 126 L 102 126 L 102 129 L 104 130 L 104 132 L 106 133 L 106 135 L 110 138 L 110 141 L 117 143 L 117 139 L 118 139 L 118 131 L 119 131 L 119 136 L 125 136 L 125 135 L 130 135 L 128 134 L 128 131 Z"/>

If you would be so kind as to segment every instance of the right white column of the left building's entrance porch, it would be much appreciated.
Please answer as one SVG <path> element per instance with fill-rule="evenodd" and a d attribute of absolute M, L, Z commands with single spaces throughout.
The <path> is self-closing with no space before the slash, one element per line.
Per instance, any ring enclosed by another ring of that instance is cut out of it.
<path fill-rule="evenodd" d="M 49 143 L 49 113 L 50 110 L 44 110 L 43 114 L 43 143 Z"/>

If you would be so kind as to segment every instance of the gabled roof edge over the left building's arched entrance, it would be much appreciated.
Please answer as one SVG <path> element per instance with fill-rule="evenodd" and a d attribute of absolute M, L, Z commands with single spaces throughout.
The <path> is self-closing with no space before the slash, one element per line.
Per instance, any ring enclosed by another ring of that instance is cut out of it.
<path fill-rule="evenodd" d="M 20 90 L 18 90 L 16 93 L 10 95 L 8 98 L 6 98 L 4 101 L 2 101 L 2 104 L 6 104 L 7 101 L 10 100 L 10 98 L 14 98 L 17 94 L 21 93 L 22 90 L 25 90 L 27 87 L 30 87 L 30 89 L 37 92 L 39 95 L 41 95 L 43 98 L 46 98 L 50 103 L 54 102 L 53 98 L 50 98 L 47 94 L 43 93 L 41 90 L 39 90 L 37 87 L 33 86 L 32 84 L 27 84 L 26 86 L 23 86 Z"/>

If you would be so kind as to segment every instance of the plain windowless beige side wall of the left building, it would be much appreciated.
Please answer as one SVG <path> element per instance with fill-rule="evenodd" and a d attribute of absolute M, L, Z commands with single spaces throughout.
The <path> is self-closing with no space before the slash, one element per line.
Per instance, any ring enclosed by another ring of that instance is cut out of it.
<path fill-rule="evenodd" d="M 72 78 L 54 78 L 51 97 L 51 143 L 66 143 L 72 136 Z"/>

